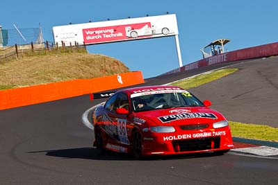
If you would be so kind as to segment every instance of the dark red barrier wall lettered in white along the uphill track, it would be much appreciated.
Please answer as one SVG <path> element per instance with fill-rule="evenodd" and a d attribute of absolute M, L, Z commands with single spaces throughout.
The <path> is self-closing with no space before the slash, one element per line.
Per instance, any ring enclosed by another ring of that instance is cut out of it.
<path fill-rule="evenodd" d="M 172 71 L 164 73 L 163 75 L 170 74 L 170 73 L 184 72 L 191 69 L 197 69 L 199 67 L 206 67 L 208 65 L 220 64 L 224 62 L 233 62 L 233 61 L 247 60 L 252 58 L 263 58 L 263 57 L 274 56 L 274 55 L 278 55 L 278 42 L 265 44 L 261 46 L 254 46 L 247 49 L 240 49 L 240 50 L 231 51 L 227 53 L 222 53 L 220 55 L 215 55 L 209 58 L 198 60 L 190 64 L 186 64 L 183 67 L 174 69 Z"/>

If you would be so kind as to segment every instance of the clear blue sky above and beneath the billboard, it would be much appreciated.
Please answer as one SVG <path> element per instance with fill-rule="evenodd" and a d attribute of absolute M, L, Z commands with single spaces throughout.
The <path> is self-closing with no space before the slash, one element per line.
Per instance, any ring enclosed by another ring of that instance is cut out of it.
<path fill-rule="evenodd" d="M 231 39 L 229 51 L 278 40 L 278 1 L 19 1 L 1 0 L 3 29 L 35 28 L 40 23 L 44 40 L 54 41 L 52 27 L 107 19 L 177 15 L 183 65 L 202 59 L 203 46 L 219 38 Z M 122 61 L 145 78 L 179 67 L 174 37 L 88 46 L 89 53 Z"/>

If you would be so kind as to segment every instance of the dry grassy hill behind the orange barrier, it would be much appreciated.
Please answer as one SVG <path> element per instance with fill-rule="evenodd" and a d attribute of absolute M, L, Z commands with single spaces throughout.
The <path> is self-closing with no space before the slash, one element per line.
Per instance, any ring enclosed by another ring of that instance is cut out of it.
<path fill-rule="evenodd" d="M 24 55 L 17 60 L 0 61 L 0 89 L 97 78 L 128 71 L 115 58 L 86 52 Z"/>

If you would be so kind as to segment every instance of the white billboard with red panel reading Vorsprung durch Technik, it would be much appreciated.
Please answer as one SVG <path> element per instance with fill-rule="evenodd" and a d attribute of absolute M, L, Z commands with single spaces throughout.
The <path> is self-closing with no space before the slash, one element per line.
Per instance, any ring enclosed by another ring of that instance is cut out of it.
<path fill-rule="evenodd" d="M 70 43 L 101 44 L 133 39 L 147 39 L 178 35 L 175 14 L 89 22 L 53 27 L 54 41 L 68 46 Z"/>

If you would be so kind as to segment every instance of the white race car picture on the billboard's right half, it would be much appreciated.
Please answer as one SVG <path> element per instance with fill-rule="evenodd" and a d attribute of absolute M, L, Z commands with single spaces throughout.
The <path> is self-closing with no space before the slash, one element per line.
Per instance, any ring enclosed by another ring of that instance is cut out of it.
<path fill-rule="evenodd" d="M 152 28 L 149 27 L 149 25 L 145 25 L 140 29 L 131 29 L 131 26 L 126 26 L 126 37 L 131 37 L 131 38 L 137 38 L 140 36 L 145 36 L 145 35 L 158 35 L 158 34 L 163 34 L 163 35 L 168 35 L 170 34 L 170 29 L 167 27 L 163 28 L 156 28 L 152 26 Z M 171 31 L 171 33 L 173 33 Z"/>

